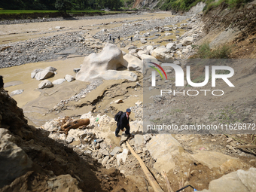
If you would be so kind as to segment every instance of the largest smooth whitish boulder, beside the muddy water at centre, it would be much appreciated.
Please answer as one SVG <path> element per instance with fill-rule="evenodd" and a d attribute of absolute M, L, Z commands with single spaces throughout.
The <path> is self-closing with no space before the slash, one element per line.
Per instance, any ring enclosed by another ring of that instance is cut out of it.
<path fill-rule="evenodd" d="M 133 72 L 117 71 L 125 66 L 122 50 L 114 44 L 106 44 L 101 53 L 91 53 L 84 58 L 81 70 L 76 79 L 80 81 L 93 81 L 95 79 L 128 79 L 136 81 L 137 75 Z"/>

